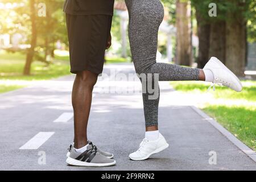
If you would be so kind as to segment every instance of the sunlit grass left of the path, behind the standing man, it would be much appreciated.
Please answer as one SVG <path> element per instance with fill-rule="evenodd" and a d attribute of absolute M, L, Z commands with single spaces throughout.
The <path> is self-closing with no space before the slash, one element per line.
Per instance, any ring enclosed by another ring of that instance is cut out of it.
<path fill-rule="evenodd" d="M 70 74 L 69 62 L 58 56 L 53 64 L 34 61 L 31 66 L 31 75 L 24 76 L 23 67 L 26 56 L 22 53 L 6 53 L 0 51 L 0 93 L 23 88 L 28 81 L 48 80 Z M 18 84 L 17 84 L 18 83 Z"/>

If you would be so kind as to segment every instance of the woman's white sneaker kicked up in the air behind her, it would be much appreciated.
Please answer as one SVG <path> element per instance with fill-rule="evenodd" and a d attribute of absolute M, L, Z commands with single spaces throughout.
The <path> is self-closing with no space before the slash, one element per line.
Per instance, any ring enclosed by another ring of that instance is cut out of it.
<path fill-rule="evenodd" d="M 233 89 L 237 92 L 242 91 L 242 84 L 240 80 L 232 71 L 230 71 L 220 60 L 216 57 L 211 57 L 208 63 L 205 65 L 203 70 L 209 69 L 212 71 L 214 76 L 213 81 L 213 89 L 214 84 L 228 86 L 230 89 Z M 211 87 L 210 86 L 210 87 Z M 209 88 L 210 89 L 210 88 Z"/>

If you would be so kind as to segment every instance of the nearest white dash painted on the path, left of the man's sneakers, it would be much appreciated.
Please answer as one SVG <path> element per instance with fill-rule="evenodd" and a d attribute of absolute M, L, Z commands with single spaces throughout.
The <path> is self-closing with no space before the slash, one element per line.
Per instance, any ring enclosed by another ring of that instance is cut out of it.
<path fill-rule="evenodd" d="M 36 134 L 33 138 L 28 140 L 27 143 L 25 143 L 22 147 L 19 149 L 27 149 L 27 150 L 33 150 L 38 149 L 44 142 L 46 142 L 55 132 L 39 132 Z"/>

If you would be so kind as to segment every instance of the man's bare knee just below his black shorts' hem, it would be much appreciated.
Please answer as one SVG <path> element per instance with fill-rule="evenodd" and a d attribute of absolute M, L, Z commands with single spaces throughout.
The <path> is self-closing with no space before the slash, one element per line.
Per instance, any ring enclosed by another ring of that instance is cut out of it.
<path fill-rule="evenodd" d="M 97 82 L 98 75 L 89 71 L 81 71 L 77 73 L 77 79 L 81 82 L 82 85 L 93 89 L 93 86 Z"/>

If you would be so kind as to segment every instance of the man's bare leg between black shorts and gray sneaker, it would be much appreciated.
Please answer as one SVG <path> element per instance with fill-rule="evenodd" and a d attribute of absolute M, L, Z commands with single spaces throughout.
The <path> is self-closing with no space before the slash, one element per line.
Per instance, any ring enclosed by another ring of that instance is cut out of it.
<path fill-rule="evenodd" d="M 87 124 L 92 105 L 93 86 L 98 75 L 89 71 L 76 74 L 72 90 L 72 105 L 74 110 L 75 148 L 87 144 Z"/>

